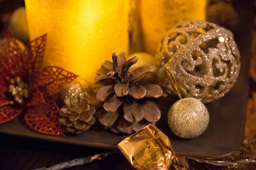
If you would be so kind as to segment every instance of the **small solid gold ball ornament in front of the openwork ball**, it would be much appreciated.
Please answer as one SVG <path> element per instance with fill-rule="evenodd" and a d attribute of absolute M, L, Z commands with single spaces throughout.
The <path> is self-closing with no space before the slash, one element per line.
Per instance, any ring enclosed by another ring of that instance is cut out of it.
<path fill-rule="evenodd" d="M 175 102 L 168 112 L 168 125 L 180 138 L 196 138 L 209 124 L 209 113 L 202 102 L 193 97 Z"/>

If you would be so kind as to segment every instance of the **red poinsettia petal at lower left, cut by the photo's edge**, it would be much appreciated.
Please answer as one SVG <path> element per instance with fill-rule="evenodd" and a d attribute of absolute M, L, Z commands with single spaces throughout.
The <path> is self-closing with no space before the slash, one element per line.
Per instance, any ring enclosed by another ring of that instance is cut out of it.
<path fill-rule="evenodd" d="M 0 124 L 12 120 L 13 118 L 17 117 L 20 113 L 20 109 L 13 108 L 12 106 L 1 106 Z"/>

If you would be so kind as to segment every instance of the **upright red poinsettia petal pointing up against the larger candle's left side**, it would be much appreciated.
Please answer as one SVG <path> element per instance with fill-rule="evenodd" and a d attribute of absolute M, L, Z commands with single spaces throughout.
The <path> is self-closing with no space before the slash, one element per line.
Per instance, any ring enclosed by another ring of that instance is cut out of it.
<path fill-rule="evenodd" d="M 42 67 L 46 41 L 46 34 L 34 39 L 26 46 L 26 50 L 23 53 L 26 66 L 28 66 L 28 69 L 31 69 L 33 72 L 40 70 Z"/>

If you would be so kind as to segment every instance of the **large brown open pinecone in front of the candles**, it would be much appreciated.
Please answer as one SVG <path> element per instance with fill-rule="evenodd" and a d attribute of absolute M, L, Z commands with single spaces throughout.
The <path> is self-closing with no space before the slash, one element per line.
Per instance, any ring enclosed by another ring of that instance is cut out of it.
<path fill-rule="evenodd" d="M 103 102 L 104 110 L 99 115 L 100 124 L 114 132 L 140 131 L 149 122 L 153 124 L 161 117 L 157 104 L 148 97 L 160 97 L 159 85 L 141 85 L 138 80 L 154 70 L 151 65 L 129 68 L 137 57 L 125 59 L 125 54 L 113 53 L 113 63 L 106 61 L 97 72 L 95 83 L 102 85 L 96 98 Z"/>

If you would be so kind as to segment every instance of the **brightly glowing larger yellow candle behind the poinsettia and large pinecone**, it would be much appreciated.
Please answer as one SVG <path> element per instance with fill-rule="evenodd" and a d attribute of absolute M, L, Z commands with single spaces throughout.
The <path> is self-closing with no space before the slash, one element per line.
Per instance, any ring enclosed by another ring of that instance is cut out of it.
<path fill-rule="evenodd" d="M 93 82 L 113 52 L 128 52 L 129 0 L 25 0 L 30 39 L 47 33 L 44 65 Z"/>

